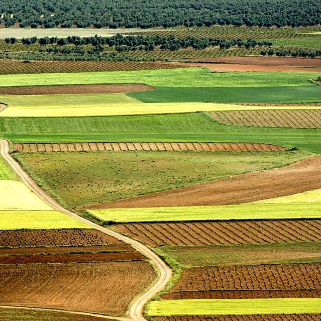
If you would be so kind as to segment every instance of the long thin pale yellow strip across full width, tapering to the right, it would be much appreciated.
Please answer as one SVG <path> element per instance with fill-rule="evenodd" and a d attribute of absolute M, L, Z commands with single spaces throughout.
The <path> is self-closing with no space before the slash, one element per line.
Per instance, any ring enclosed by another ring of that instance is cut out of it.
<path fill-rule="evenodd" d="M 206 102 L 12 105 L 0 117 L 85 117 L 193 113 L 199 111 L 320 109 L 319 106 L 245 106 Z"/>

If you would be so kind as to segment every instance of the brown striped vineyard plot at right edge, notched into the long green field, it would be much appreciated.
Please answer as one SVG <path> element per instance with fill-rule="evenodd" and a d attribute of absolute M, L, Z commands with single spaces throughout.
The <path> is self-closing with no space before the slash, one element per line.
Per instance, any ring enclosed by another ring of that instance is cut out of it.
<path fill-rule="evenodd" d="M 236 126 L 321 128 L 321 110 L 262 110 L 213 112 L 220 123 Z"/>

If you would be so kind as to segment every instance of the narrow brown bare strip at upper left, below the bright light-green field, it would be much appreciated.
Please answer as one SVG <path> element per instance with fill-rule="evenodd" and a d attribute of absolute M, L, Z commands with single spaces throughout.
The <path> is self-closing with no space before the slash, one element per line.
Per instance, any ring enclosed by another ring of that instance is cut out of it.
<path fill-rule="evenodd" d="M 48 85 L 0 87 L 1 95 L 55 95 L 84 93 L 124 93 L 155 90 L 142 83 L 132 84 L 95 84 L 95 85 Z"/>

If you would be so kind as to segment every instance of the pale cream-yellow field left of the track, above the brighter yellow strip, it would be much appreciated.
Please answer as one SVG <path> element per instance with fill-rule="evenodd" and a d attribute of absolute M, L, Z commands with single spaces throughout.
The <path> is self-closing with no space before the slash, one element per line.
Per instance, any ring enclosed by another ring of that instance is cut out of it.
<path fill-rule="evenodd" d="M 0 210 L 52 210 L 22 182 L 0 180 Z"/>

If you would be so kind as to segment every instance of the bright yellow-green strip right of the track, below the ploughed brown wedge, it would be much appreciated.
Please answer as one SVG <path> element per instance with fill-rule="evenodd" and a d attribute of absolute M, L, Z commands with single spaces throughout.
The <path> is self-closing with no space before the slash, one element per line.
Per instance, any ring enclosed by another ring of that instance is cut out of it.
<path fill-rule="evenodd" d="M 319 219 L 321 203 L 239 204 L 90 209 L 98 219 L 116 223 L 228 220 Z"/>

